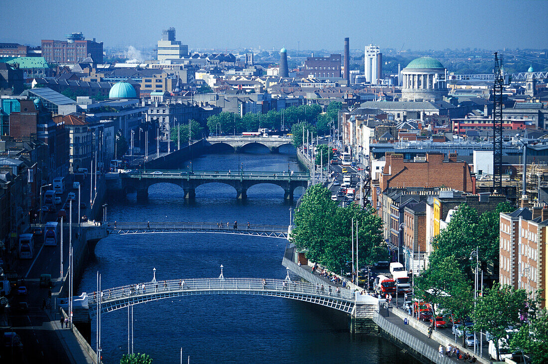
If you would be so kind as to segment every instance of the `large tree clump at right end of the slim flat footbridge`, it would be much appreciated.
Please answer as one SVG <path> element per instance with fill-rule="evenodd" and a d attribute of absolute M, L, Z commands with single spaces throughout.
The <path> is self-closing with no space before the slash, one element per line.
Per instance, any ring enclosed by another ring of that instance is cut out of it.
<path fill-rule="evenodd" d="M 308 188 L 302 197 L 295 212 L 291 239 L 311 261 L 333 271 L 346 271 L 347 262 L 352 260 L 352 220 L 358 224 L 358 266 L 386 260 L 383 222 L 372 207 L 362 209 L 356 204 L 340 207 L 321 184 Z"/>

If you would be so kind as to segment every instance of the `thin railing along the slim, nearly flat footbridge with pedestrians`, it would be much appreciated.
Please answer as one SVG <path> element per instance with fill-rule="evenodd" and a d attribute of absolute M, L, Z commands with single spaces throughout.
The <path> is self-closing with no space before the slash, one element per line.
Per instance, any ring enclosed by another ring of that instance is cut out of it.
<path fill-rule="evenodd" d="M 250 230 L 253 232 L 287 233 L 287 226 L 211 223 L 211 222 L 106 222 L 103 223 L 110 230 Z"/>

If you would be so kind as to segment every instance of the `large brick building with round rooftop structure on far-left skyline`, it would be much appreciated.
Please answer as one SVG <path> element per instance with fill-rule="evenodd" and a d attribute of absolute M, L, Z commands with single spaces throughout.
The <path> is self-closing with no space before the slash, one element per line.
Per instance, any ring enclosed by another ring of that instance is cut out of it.
<path fill-rule="evenodd" d="M 67 34 L 66 41 L 42 39 L 42 57 L 49 63 L 78 63 L 92 57 L 96 63 L 103 62 L 103 44 L 85 40 L 84 34 Z"/>

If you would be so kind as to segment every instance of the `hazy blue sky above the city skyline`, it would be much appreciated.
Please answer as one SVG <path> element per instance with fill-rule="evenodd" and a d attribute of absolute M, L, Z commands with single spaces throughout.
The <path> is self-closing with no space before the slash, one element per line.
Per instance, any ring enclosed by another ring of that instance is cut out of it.
<path fill-rule="evenodd" d="M 33 45 L 81 31 L 148 46 L 173 26 L 190 49 L 548 48 L 546 0 L 0 0 L 0 14 L 0 42 Z"/>

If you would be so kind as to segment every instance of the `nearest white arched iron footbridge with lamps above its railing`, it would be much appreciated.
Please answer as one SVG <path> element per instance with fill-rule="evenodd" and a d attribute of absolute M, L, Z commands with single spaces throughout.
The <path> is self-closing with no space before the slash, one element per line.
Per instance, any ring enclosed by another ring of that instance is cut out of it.
<path fill-rule="evenodd" d="M 98 307 L 101 313 L 122 309 L 130 305 L 158 301 L 159 299 L 198 294 L 252 294 L 311 302 L 351 314 L 356 303 L 353 291 L 343 287 L 316 286 L 311 283 L 286 279 L 260 278 L 207 278 L 173 279 L 144 282 L 103 290 L 87 295 L 92 314 Z M 359 296 L 359 295 L 358 295 Z M 100 304 L 99 304 L 100 301 Z"/>

